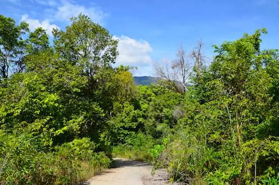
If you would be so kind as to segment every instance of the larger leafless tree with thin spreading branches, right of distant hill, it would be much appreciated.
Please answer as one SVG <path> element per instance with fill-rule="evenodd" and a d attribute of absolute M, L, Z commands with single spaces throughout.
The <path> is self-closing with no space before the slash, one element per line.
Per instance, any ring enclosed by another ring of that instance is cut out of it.
<path fill-rule="evenodd" d="M 187 84 L 191 72 L 191 63 L 183 46 L 179 47 L 175 60 L 162 63 L 154 64 L 157 76 L 166 79 L 179 93 L 185 93 L 188 90 Z"/>

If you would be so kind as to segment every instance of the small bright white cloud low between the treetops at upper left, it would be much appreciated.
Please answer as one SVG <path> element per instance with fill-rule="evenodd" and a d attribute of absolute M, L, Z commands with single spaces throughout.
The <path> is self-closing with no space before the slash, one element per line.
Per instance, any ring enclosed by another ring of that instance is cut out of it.
<path fill-rule="evenodd" d="M 52 35 L 53 28 L 59 28 L 57 25 L 51 24 L 48 19 L 45 19 L 40 22 L 38 19 L 29 18 L 26 14 L 22 15 L 20 20 L 27 22 L 29 24 L 29 28 L 32 31 L 37 27 L 43 27 L 44 29 L 46 29 L 48 35 Z"/>

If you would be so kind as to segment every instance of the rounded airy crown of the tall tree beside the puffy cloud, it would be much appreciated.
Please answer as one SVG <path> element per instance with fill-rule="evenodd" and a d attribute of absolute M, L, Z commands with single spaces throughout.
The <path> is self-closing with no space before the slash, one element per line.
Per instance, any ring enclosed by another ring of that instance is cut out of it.
<path fill-rule="evenodd" d="M 72 25 L 65 32 L 55 29 L 54 46 L 62 57 L 82 66 L 92 78 L 100 67 L 111 67 L 118 55 L 117 40 L 108 30 L 80 14 L 71 18 Z"/>

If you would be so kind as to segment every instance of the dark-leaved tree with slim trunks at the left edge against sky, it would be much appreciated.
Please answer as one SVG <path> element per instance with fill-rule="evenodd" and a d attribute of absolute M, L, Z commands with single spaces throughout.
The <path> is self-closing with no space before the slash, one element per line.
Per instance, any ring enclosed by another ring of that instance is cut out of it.
<path fill-rule="evenodd" d="M 21 71 L 17 66 L 21 66 L 24 54 L 22 35 L 28 31 L 27 23 L 16 25 L 14 19 L 0 15 L 0 78 L 6 79 L 9 71 Z"/>

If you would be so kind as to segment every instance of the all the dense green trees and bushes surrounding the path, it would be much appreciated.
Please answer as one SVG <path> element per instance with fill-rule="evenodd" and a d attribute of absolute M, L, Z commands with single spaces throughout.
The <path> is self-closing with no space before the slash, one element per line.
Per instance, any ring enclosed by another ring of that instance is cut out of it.
<path fill-rule="evenodd" d="M 87 16 L 30 32 L 0 16 L 0 184 L 75 184 L 113 156 L 190 184 L 279 183 L 279 52 L 261 34 L 195 60 L 191 86 L 135 86 L 117 41 Z"/>

